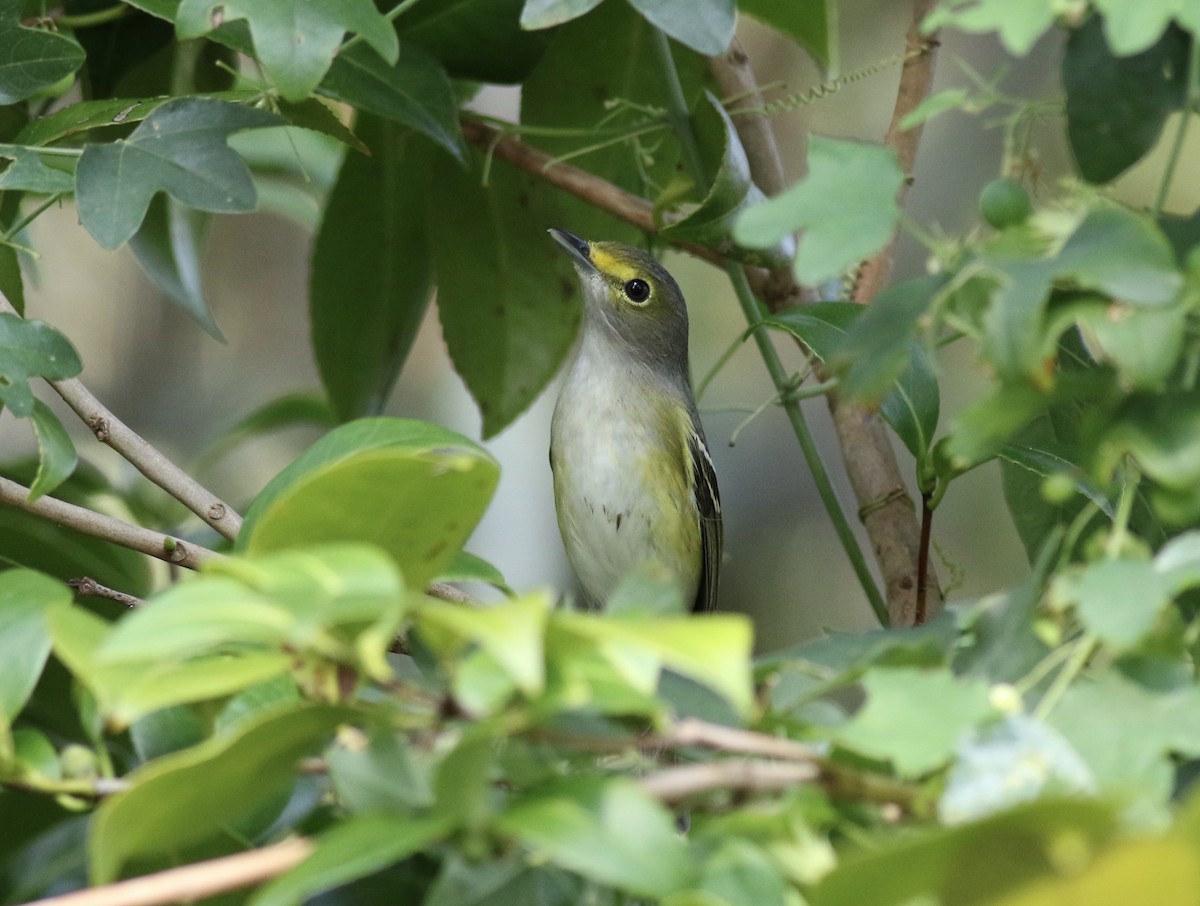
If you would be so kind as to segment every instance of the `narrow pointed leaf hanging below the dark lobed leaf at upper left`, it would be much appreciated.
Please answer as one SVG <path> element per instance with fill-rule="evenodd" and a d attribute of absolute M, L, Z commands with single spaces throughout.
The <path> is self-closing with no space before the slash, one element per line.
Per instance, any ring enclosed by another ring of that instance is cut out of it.
<path fill-rule="evenodd" d="M 211 216 L 156 194 L 145 220 L 130 238 L 142 271 L 210 336 L 223 340 L 200 280 L 200 257 Z"/>

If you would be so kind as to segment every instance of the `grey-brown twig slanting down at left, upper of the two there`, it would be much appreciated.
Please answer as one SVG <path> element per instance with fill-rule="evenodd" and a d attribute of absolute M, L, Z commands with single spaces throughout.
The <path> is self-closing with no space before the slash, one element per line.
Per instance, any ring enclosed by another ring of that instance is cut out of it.
<path fill-rule="evenodd" d="M 0 312 L 17 314 L 0 293 Z M 19 317 L 19 316 L 18 316 Z M 233 540 L 241 530 L 241 516 L 209 493 L 196 479 L 168 460 L 145 438 L 109 412 L 77 378 L 47 380 L 102 444 L 112 446 L 154 484 L 174 497 L 204 522 Z"/>

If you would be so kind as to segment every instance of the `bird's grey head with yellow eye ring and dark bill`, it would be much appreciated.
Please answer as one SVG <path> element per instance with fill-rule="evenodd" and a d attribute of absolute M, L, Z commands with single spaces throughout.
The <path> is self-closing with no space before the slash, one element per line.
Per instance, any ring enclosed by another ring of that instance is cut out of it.
<path fill-rule="evenodd" d="M 688 370 L 688 307 L 679 284 L 654 258 L 623 242 L 550 234 L 571 256 L 583 286 L 589 331 L 649 366 Z"/>

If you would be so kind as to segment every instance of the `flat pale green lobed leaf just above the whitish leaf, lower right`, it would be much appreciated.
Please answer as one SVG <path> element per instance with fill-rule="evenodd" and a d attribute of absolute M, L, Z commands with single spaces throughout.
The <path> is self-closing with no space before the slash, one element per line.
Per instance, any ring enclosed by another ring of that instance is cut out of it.
<path fill-rule="evenodd" d="M 866 704 L 834 733 L 853 751 L 890 761 L 918 778 L 944 764 L 959 739 L 992 714 L 988 684 L 948 670 L 871 667 Z"/>

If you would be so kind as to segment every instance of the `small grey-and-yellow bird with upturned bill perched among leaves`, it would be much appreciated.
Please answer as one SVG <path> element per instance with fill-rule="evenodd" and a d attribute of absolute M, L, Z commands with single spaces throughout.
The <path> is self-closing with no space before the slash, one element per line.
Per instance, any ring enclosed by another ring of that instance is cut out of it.
<path fill-rule="evenodd" d="M 568 559 L 592 606 L 656 563 L 694 611 L 710 611 L 721 502 L 688 373 L 683 293 L 640 248 L 550 234 L 571 256 L 584 308 L 550 431 Z"/>

